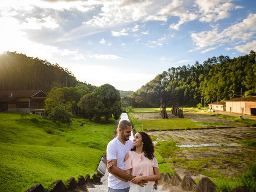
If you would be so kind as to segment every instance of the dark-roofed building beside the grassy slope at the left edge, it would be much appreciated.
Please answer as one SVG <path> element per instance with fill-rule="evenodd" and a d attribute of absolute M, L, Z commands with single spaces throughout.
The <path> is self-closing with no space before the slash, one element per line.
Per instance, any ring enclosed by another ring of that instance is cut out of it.
<path fill-rule="evenodd" d="M 0 91 L 0 111 L 44 115 L 46 96 L 42 90 Z"/>

